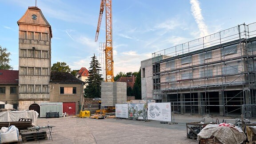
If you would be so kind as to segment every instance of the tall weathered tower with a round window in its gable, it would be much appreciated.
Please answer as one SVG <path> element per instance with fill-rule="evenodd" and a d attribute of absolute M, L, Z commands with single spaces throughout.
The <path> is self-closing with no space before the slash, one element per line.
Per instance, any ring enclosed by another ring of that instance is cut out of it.
<path fill-rule="evenodd" d="M 29 7 L 19 25 L 19 110 L 49 102 L 52 30 L 37 7 Z"/>

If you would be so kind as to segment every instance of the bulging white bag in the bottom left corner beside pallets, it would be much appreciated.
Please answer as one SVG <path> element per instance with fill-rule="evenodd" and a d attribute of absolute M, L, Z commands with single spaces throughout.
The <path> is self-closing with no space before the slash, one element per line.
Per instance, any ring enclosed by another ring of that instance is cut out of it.
<path fill-rule="evenodd" d="M 9 128 L 2 127 L 0 130 L 0 144 L 17 142 L 19 139 L 19 130 L 14 125 Z"/>

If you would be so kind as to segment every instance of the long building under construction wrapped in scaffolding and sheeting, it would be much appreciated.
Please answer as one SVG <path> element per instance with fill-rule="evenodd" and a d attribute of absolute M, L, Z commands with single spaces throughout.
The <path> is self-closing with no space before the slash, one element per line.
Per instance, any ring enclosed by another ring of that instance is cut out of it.
<path fill-rule="evenodd" d="M 253 115 L 243 105 L 256 104 L 255 73 L 256 23 L 241 24 L 141 61 L 142 99 L 178 113 Z"/>

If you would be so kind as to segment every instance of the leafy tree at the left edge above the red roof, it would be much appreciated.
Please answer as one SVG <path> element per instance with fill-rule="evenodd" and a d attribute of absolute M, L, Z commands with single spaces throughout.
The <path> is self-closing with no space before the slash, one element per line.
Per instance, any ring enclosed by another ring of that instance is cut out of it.
<path fill-rule="evenodd" d="M 0 46 L 0 69 L 9 70 L 12 69 L 12 67 L 9 65 L 11 55 L 10 52 L 7 52 L 7 48 L 2 48 Z"/>

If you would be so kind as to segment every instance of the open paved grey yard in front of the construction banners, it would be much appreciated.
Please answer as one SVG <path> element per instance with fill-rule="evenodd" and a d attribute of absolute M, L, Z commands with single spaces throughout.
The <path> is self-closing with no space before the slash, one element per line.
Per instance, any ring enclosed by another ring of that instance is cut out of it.
<path fill-rule="evenodd" d="M 39 126 L 52 128 L 52 140 L 22 144 L 198 144 L 187 138 L 185 124 L 159 121 L 90 119 L 79 117 L 38 118 Z"/>

